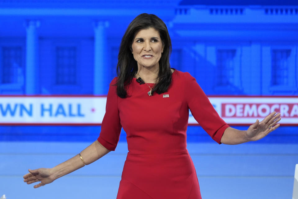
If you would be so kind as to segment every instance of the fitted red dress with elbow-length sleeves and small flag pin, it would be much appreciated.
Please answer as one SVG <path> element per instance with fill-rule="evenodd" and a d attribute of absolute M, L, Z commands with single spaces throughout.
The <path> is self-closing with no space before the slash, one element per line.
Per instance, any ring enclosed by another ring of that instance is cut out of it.
<path fill-rule="evenodd" d="M 140 85 L 134 78 L 124 99 L 117 96 L 115 83 L 116 78 L 110 84 L 98 141 L 115 150 L 121 127 L 127 134 L 129 152 L 117 199 L 200 199 L 195 167 L 186 149 L 188 109 L 218 143 L 229 126 L 195 78 L 175 70 L 168 91 L 153 96 L 147 94 L 147 84 Z"/>

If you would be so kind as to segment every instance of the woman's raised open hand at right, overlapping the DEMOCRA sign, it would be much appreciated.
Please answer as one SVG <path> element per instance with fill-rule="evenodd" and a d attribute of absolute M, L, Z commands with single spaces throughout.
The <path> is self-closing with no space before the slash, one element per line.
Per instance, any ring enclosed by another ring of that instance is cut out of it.
<path fill-rule="evenodd" d="M 281 118 L 280 113 L 273 112 L 264 118 L 261 122 L 257 121 L 252 124 L 246 131 L 246 137 L 251 141 L 257 141 L 267 136 L 270 132 L 279 127 L 278 123 Z"/>

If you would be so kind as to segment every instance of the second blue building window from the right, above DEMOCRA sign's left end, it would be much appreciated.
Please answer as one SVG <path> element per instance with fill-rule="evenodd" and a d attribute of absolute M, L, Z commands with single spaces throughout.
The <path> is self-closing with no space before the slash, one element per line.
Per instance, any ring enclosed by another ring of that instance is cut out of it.
<path fill-rule="evenodd" d="M 228 86 L 234 82 L 236 49 L 219 49 L 216 52 L 216 85 Z"/>

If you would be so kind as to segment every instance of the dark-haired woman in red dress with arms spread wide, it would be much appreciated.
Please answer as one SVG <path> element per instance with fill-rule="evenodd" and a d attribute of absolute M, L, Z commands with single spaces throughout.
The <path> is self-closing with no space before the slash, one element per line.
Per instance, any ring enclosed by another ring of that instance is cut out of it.
<path fill-rule="evenodd" d="M 137 16 L 127 28 L 110 84 L 106 113 L 97 141 L 52 169 L 30 170 L 27 184 L 44 186 L 98 160 L 127 133 L 128 155 L 117 198 L 201 198 L 198 179 L 186 149 L 188 109 L 219 144 L 256 141 L 279 127 L 275 112 L 248 130 L 229 127 L 216 113 L 189 73 L 171 69 L 171 41 L 165 23 L 152 14 Z"/>

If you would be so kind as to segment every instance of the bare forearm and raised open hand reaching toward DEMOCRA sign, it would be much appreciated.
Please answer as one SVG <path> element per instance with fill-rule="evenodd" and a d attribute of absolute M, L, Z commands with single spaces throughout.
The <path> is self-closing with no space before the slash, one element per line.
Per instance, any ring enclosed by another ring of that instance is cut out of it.
<path fill-rule="evenodd" d="M 241 144 L 248 141 L 257 141 L 267 136 L 270 132 L 279 127 L 277 124 L 281 120 L 280 113 L 273 112 L 265 117 L 261 122 L 257 120 L 246 131 L 237 130 L 232 127 L 228 127 L 224 131 L 224 135 L 221 138 L 221 143 L 234 145 Z"/>

